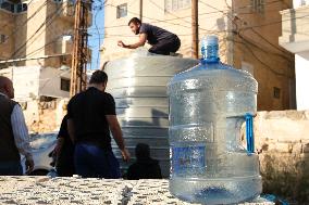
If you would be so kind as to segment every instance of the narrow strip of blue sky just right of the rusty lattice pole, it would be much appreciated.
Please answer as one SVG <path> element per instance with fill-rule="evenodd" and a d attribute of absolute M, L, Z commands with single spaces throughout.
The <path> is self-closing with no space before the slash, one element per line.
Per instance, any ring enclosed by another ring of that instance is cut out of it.
<path fill-rule="evenodd" d="M 92 50 L 91 63 L 88 65 L 88 69 L 98 69 L 100 66 L 99 49 L 103 43 L 104 34 L 104 10 L 103 7 L 94 7 L 92 10 L 92 25 L 88 29 L 88 46 Z"/>

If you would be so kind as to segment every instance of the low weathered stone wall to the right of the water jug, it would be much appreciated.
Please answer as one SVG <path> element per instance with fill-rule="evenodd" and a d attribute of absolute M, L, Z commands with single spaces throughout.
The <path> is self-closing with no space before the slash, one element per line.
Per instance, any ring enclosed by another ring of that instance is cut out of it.
<path fill-rule="evenodd" d="M 255 137 L 263 192 L 309 204 L 309 111 L 259 112 Z"/>

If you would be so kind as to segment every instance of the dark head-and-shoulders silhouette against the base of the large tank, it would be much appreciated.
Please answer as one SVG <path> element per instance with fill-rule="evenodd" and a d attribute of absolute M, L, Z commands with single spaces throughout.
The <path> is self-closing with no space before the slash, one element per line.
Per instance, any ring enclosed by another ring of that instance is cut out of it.
<path fill-rule="evenodd" d="M 127 169 L 127 179 L 162 179 L 159 162 L 150 157 L 148 144 L 138 143 L 135 148 L 136 163 Z"/>

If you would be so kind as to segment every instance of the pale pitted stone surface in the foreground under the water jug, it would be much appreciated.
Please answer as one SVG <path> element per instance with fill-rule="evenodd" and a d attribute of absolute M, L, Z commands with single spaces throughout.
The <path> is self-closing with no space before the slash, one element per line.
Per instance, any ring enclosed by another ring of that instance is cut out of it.
<path fill-rule="evenodd" d="M 0 177 L 0 204 L 176 204 L 168 180 L 102 180 L 48 177 Z M 273 205 L 257 198 L 246 205 Z"/>

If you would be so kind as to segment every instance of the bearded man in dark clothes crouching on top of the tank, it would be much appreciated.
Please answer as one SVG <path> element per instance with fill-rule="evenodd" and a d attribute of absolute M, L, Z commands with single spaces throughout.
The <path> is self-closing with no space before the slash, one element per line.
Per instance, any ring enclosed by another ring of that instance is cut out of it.
<path fill-rule="evenodd" d="M 175 34 L 150 24 L 141 23 L 137 17 L 133 17 L 128 22 L 128 26 L 135 35 L 139 35 L 139 40 L 133 44 L 125 44 L 120 40 L 118 42 L 119 47 L 137 49 L 148 41 L 148 43 L 152 46 L 149 52 L 162 55 L 169 55 L 171 52 L 174 53 L 181 47 L 181 40 Z"/>

